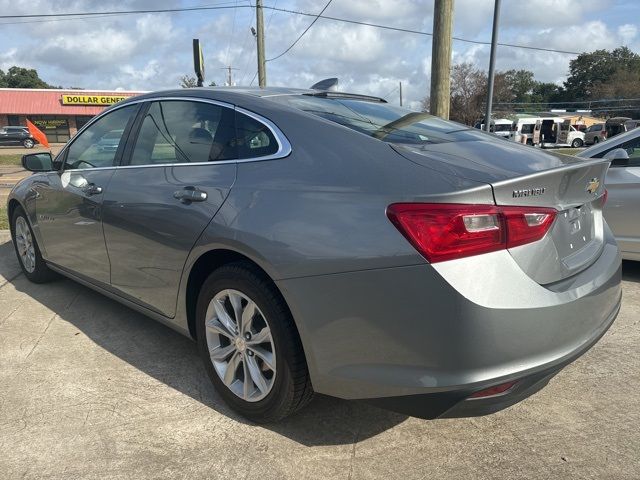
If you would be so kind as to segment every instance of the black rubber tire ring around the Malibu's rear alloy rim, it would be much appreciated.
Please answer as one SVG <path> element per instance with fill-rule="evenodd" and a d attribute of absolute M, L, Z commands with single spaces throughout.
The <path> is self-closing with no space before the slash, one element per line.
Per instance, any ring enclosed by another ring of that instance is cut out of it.
<path fill-rule="evenodd" d="M 256 282 L 256 280 L 258 280 Z M 206 332 L 205 316 L 209 303 L 213 297 L 222 290 L 237 290 L 253 300 L 271 330 L 271 336 L 276 352 L 276 378 L 271 391 L 265 398 L 257 402 L 247 402 L 236 396 L 218 376 L 213 363 L 209 357 Z M 269 295 L 265 285 L 259 281 L 258 277 L 244 269 L 222 267 L 212 273 L 202 285 L 196 306 L 196 330 L 197 342 L 200 356 L 204 362 L 207 375 L 222 398 L 239 411 L 242 415 L 255 421 L 269 419 L 279 407 L 293 396 L 293 381 L 290 369 L 290 346 L 286 342 L 285 322 L 282 316 L 281 307 Z"/>

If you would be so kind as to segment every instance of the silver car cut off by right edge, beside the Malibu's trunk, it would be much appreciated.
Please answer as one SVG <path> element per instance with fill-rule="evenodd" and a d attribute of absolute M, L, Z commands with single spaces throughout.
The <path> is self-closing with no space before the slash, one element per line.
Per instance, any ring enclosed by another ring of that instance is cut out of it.
<path fill-rule="evenodd" d="M 640 260 L 640 129 L 631 130 L 580 152 L 578 157 L 611 160 L 605 181 L 604 210 L 622 258 Z"/>

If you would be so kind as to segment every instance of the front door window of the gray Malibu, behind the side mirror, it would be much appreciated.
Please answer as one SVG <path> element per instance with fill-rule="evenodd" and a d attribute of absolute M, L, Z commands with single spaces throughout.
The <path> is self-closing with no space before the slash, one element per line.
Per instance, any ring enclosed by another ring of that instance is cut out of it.
<path fill-rule="evenodd" d="M 65 170 L 115 165 L 123 133 L 138 105 L 128 105 L 106 114 L 78 135 L 67 150 Z"/>

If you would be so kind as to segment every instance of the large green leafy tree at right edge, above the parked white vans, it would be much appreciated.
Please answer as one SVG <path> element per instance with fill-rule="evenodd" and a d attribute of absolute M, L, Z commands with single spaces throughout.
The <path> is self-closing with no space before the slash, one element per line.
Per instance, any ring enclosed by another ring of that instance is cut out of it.
<path fill-rule="evenodd" d="M 571 60 L 569 76 L 564 82 L 566 99 L 595 99 L 598 89 L 594 87 L 609 83 L 619 70 L 640 73 L 640 55 L 633 53 L 627 47 L 619 47 L 611 52 L 596 50 L 578 55 Z"/>

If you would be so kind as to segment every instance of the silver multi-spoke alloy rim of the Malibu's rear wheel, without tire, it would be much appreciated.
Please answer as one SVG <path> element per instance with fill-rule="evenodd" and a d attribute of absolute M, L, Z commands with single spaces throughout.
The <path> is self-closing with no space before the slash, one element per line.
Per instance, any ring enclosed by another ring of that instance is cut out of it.
<path fill-rule="evenodd" d="M 218 292 L 207 307 L 206 340 L 213 367 L 236 396 L 265 398 L 276 378 L 276 351 L 267 319 L 237 290 Z"/>

